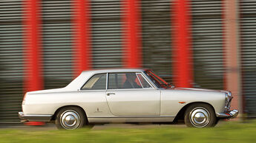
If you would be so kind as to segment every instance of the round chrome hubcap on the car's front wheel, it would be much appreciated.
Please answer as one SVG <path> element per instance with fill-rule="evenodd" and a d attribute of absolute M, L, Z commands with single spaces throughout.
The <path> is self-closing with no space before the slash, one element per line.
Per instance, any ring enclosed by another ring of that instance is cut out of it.
<path fill-rule="evenodd" d="M 210 121 L 209 116 L 210 116 L 209 111 L 207 111 L 206 108 L 198 107 L 198 108 L 194 108 L 190 112 L 189 119 L 195 127 L 203 128 L 206 125 L 208 125 Z"/>

